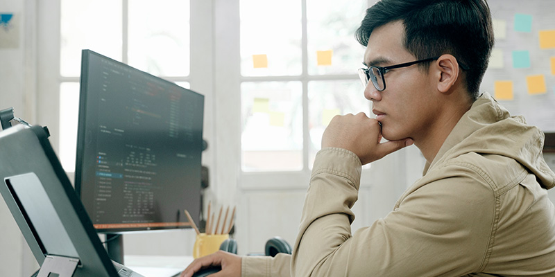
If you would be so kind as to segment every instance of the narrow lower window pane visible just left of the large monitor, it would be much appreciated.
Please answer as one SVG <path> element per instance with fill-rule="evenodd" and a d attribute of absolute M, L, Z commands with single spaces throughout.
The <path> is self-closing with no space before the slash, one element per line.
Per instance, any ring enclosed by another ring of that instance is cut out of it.
<path fill-rule="evenodd" d="M 75 170 L 77 122 L 79 115 L 79 83 L 60 84 L 60 162 L 67 172 Z"/>

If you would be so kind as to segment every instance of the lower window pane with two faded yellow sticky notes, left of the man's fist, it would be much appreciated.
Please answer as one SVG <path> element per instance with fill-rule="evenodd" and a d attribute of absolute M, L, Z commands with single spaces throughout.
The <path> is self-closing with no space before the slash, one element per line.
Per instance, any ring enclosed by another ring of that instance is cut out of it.
<path fill-rule="evenodd" d="M 301 82 L 241 84 L 244 171 L 302 170 Z"/>

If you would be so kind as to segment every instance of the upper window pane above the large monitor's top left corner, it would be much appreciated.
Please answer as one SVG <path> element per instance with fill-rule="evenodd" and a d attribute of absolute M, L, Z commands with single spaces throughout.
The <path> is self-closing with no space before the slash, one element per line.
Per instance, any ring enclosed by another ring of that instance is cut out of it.
<path fill-rule="evenodd" d="M 121 61 L 121 0 L 62 0 L 60 74 L 78 77 L 81 50 Z"/>

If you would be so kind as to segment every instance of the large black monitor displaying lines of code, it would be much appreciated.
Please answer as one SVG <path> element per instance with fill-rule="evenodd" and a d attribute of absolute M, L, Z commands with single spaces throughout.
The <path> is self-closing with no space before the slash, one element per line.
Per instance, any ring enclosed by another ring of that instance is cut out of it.
<path fill-rule="evenodd" d="M 101 233 L 200 214 L 204 96 L 83 50 L 75 186 Z"/>

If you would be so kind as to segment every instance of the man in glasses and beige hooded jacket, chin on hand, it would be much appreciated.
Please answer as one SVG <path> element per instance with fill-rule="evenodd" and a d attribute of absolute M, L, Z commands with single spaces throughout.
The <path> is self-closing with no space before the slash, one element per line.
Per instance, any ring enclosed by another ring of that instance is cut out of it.
<path fill-rule="evenodd" d="M 376 118 L 336 116 L 325 130 L 293 255 L 219 252 L 182 276 L 214 264 L 214 276 L 555 276 L 543 133 L 479 95 L 493 47 L 486 1 L 382 0 L 357 39 Z M 361 165 L 412 143 L 424 176 L 352 234 Z"/>

